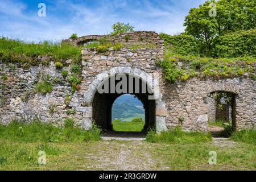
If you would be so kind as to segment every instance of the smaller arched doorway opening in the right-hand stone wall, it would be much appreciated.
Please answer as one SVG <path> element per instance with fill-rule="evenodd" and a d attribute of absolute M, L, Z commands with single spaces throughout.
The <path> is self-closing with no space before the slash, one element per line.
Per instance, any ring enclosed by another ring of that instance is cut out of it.
<path fill-rule="evenodd" d="M 236 93 L 214 91 L 208 98 L 208 129 L 214 137 L 229 137 L 236 130 Z"/>

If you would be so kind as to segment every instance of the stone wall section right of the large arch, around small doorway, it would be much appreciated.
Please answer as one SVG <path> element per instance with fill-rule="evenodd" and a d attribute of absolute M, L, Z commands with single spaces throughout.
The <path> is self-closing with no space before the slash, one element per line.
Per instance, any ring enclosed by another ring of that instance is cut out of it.
<path fill-rule="evenodd" d="M 183 126 L 184 130 L 207 130 L 207 120 L 214 119 L 216 107 L 210 93 L 215 91 L 236 94 L 236 128 L 238 130 L 256 125 L 255 81 L 245 78 L 226 80 L 199 80 L 192 78 L 186 82 L 160 86 L 168 115 L 167 127 Z M 208 103 L 209 102 L 209 103 Z M 209 117 L 208 117 L 209 114 Z M 183 122 L 179 118 L 184 118 Z"/>

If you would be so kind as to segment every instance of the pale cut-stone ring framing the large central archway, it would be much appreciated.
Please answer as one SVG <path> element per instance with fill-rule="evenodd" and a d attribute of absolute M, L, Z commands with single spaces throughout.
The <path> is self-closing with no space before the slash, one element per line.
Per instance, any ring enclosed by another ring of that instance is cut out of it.
<path fill-rule="evenodd" d="M 131 68 L 131 67 L 114 67 L 111 68 L 109 71 L 101 72 L 100 74 L 96 75 L 96 78 L 92 81 L 92 83 L 88 86 L 88 89 L 84 92 L 84 102 L 83 106 L 84 108 L 89 108 L 87 110 L 87 113 L 84 114 L 87 117 L 85 117 L 82 121 L 82 125 L 85 127 L 85 129 L 88 129 L 92 123 L 93 119 L 93 99 L 97 94 L 97 88 L 98 85 L 102 84 L 102 82 L 108 80 L 111 76 L 117 75 L 119 73 L 124 73 L 130 76 L 134 76 L 137 78 L 140 78 L 143 82 L 145 82 L 148 87 L 153 91 L 154 93 L 154 104 L 155 104 L 155 129 L 156 131 L 163 131 L 167 130 L 166 127 L 166 103 L 162 100 L 162 93 L 160 93 L 159 89 L 159 83 L 157 80 L 157 77 L 152 74 L 149 75 L 148 73 L 142 71 L 138 68 Z"/>

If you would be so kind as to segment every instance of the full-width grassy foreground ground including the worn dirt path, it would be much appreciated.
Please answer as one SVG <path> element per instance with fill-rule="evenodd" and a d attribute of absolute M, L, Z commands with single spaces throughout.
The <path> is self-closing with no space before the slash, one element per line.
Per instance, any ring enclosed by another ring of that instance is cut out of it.
<path fill-rule="evenodd" d="M 1 170 L 255 170 L 253 144 L 213 142 L 192 144 L 138 141 L 13 142 L 1 139 Z M 39 150 L 46 165 L 38 164 Z M 208 163 L 216 151 L 217 164 Z"/>

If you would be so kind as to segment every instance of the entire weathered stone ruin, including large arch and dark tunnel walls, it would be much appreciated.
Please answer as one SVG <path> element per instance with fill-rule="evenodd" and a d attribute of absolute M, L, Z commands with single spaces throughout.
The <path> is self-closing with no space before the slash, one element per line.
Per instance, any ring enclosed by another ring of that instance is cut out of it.
<path fill-rule="evenodd" d="M 127 40 L 129 35 L 129 40 Z M 113 43 L 122 43 L 120 49 L 108 48 L 99 53 L 96 48 L 82 48 L 82 81 L 80 90 L 71 93 L 71 88 L 61 71 L 51 62 L 47 67 L 33 66 L 28 69 L 0 63 L 0 79 L 5 84 L 1 91 L 0 122 L 9 123 L 12 119 L 40 119 L 63 125 L 65 118 L 73 118 L 77 126 L 90 129 L 96 121 L 103 129 L 112 130 L 111 107 L 115 98 L 123 93 L 99 93 L 99 85 L 119 73 L 140 79 L 150 90 L 159 90 L 155 100 L 149 100 L 150 93 L 136 93 L 135 96 L 145 106 L 146 128 L 157 131 L 180 125 L 186 131 L 207 131 L 208 119 L 216 118 L 215 92 L 232 93 L 230 115 L 233 126 L 240 130 L 256 124 L 255 81 L 248 78 L 228 78 L 225 80 L 200 80 L 191 78 L 185 82 L 171 84 L 162 76 L 162 70 L 155 62 L 163 59 L 164 42 L 158 34 L 150 31 L 131 32 L 115 36 L 84 36 L 65 40 L 74 46 L 94 42 L 102 37 Z M 136 44 L 138 48 L 128 48 Z M 144 48 L 141 48 L 144 47 Z M 70 71 L 70 60 L 64 69 Z M 51 93 L 46 95 L 33 92 L 38 74 L 59 78 Z M 117 83 L 115 83 L 116 85 Z M 155 89 L 159 88 L 159 89 Z M 66 97 L 70 97 L 67 103 Z M 26 99 L 25 99 L 26 98 Z M 54 106 L 54 112 L 49 107 Z M 67 110 L 76 114 L 67 114 Z M 180 119 L 183 118 L 183 119 Z"/>

